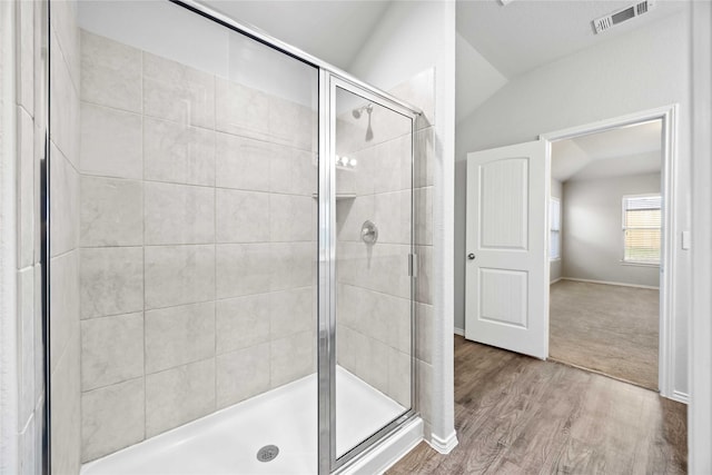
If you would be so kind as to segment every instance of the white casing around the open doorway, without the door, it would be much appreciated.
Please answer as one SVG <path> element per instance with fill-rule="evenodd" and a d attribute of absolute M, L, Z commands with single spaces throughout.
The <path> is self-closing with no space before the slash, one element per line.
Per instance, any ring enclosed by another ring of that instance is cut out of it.
<path fill-rule="evenodd" d="M 675 382 L 674 365 L 674 342 L 675 325 L 673 321 L 673 309 L 675 298 L 675 274 L 678 271 L 675 249 L 678 248 L 675 227 L 675 206 L 679 202 L 678 190 L 675 189 L 675 176 L 678 169 L 678 116 L 679 105 L 673 103 L 655 109 L 643 110 L 625 116 L 600 120 L 597 122 L 583 126 L 571 127 L 568 129 L 543 133 L 540 139 L 546 140 L 547 154 L 546 164 L 551 167 L 551 142 L 570 139 L 578 136 L 597 133 L 621 127 L 634 126 L 652 120 L 662 120 L 663 133 L 663 167 L 662 167 L 662 190 L 663 196 L 663 245 L 661 249 L 661 278 L 660 278 L 660 344 L 659 344 L 659 367 L 657 387 L 661 396 L 672 397 Z M 551 174 L 547 175 L 551 177 Z M 551 181 L 551 180 L 548 180 Z M 548 199 L 548 196 L 546 196 Z M 708 201 L 709 202 L 709 201 Z M 671 206 L 672 204 L 672 206 Z M 548 279 L 548 275 L 544 276 Z M 548 301 L 546 303 L 546 319 L 548 319 Z"/>

